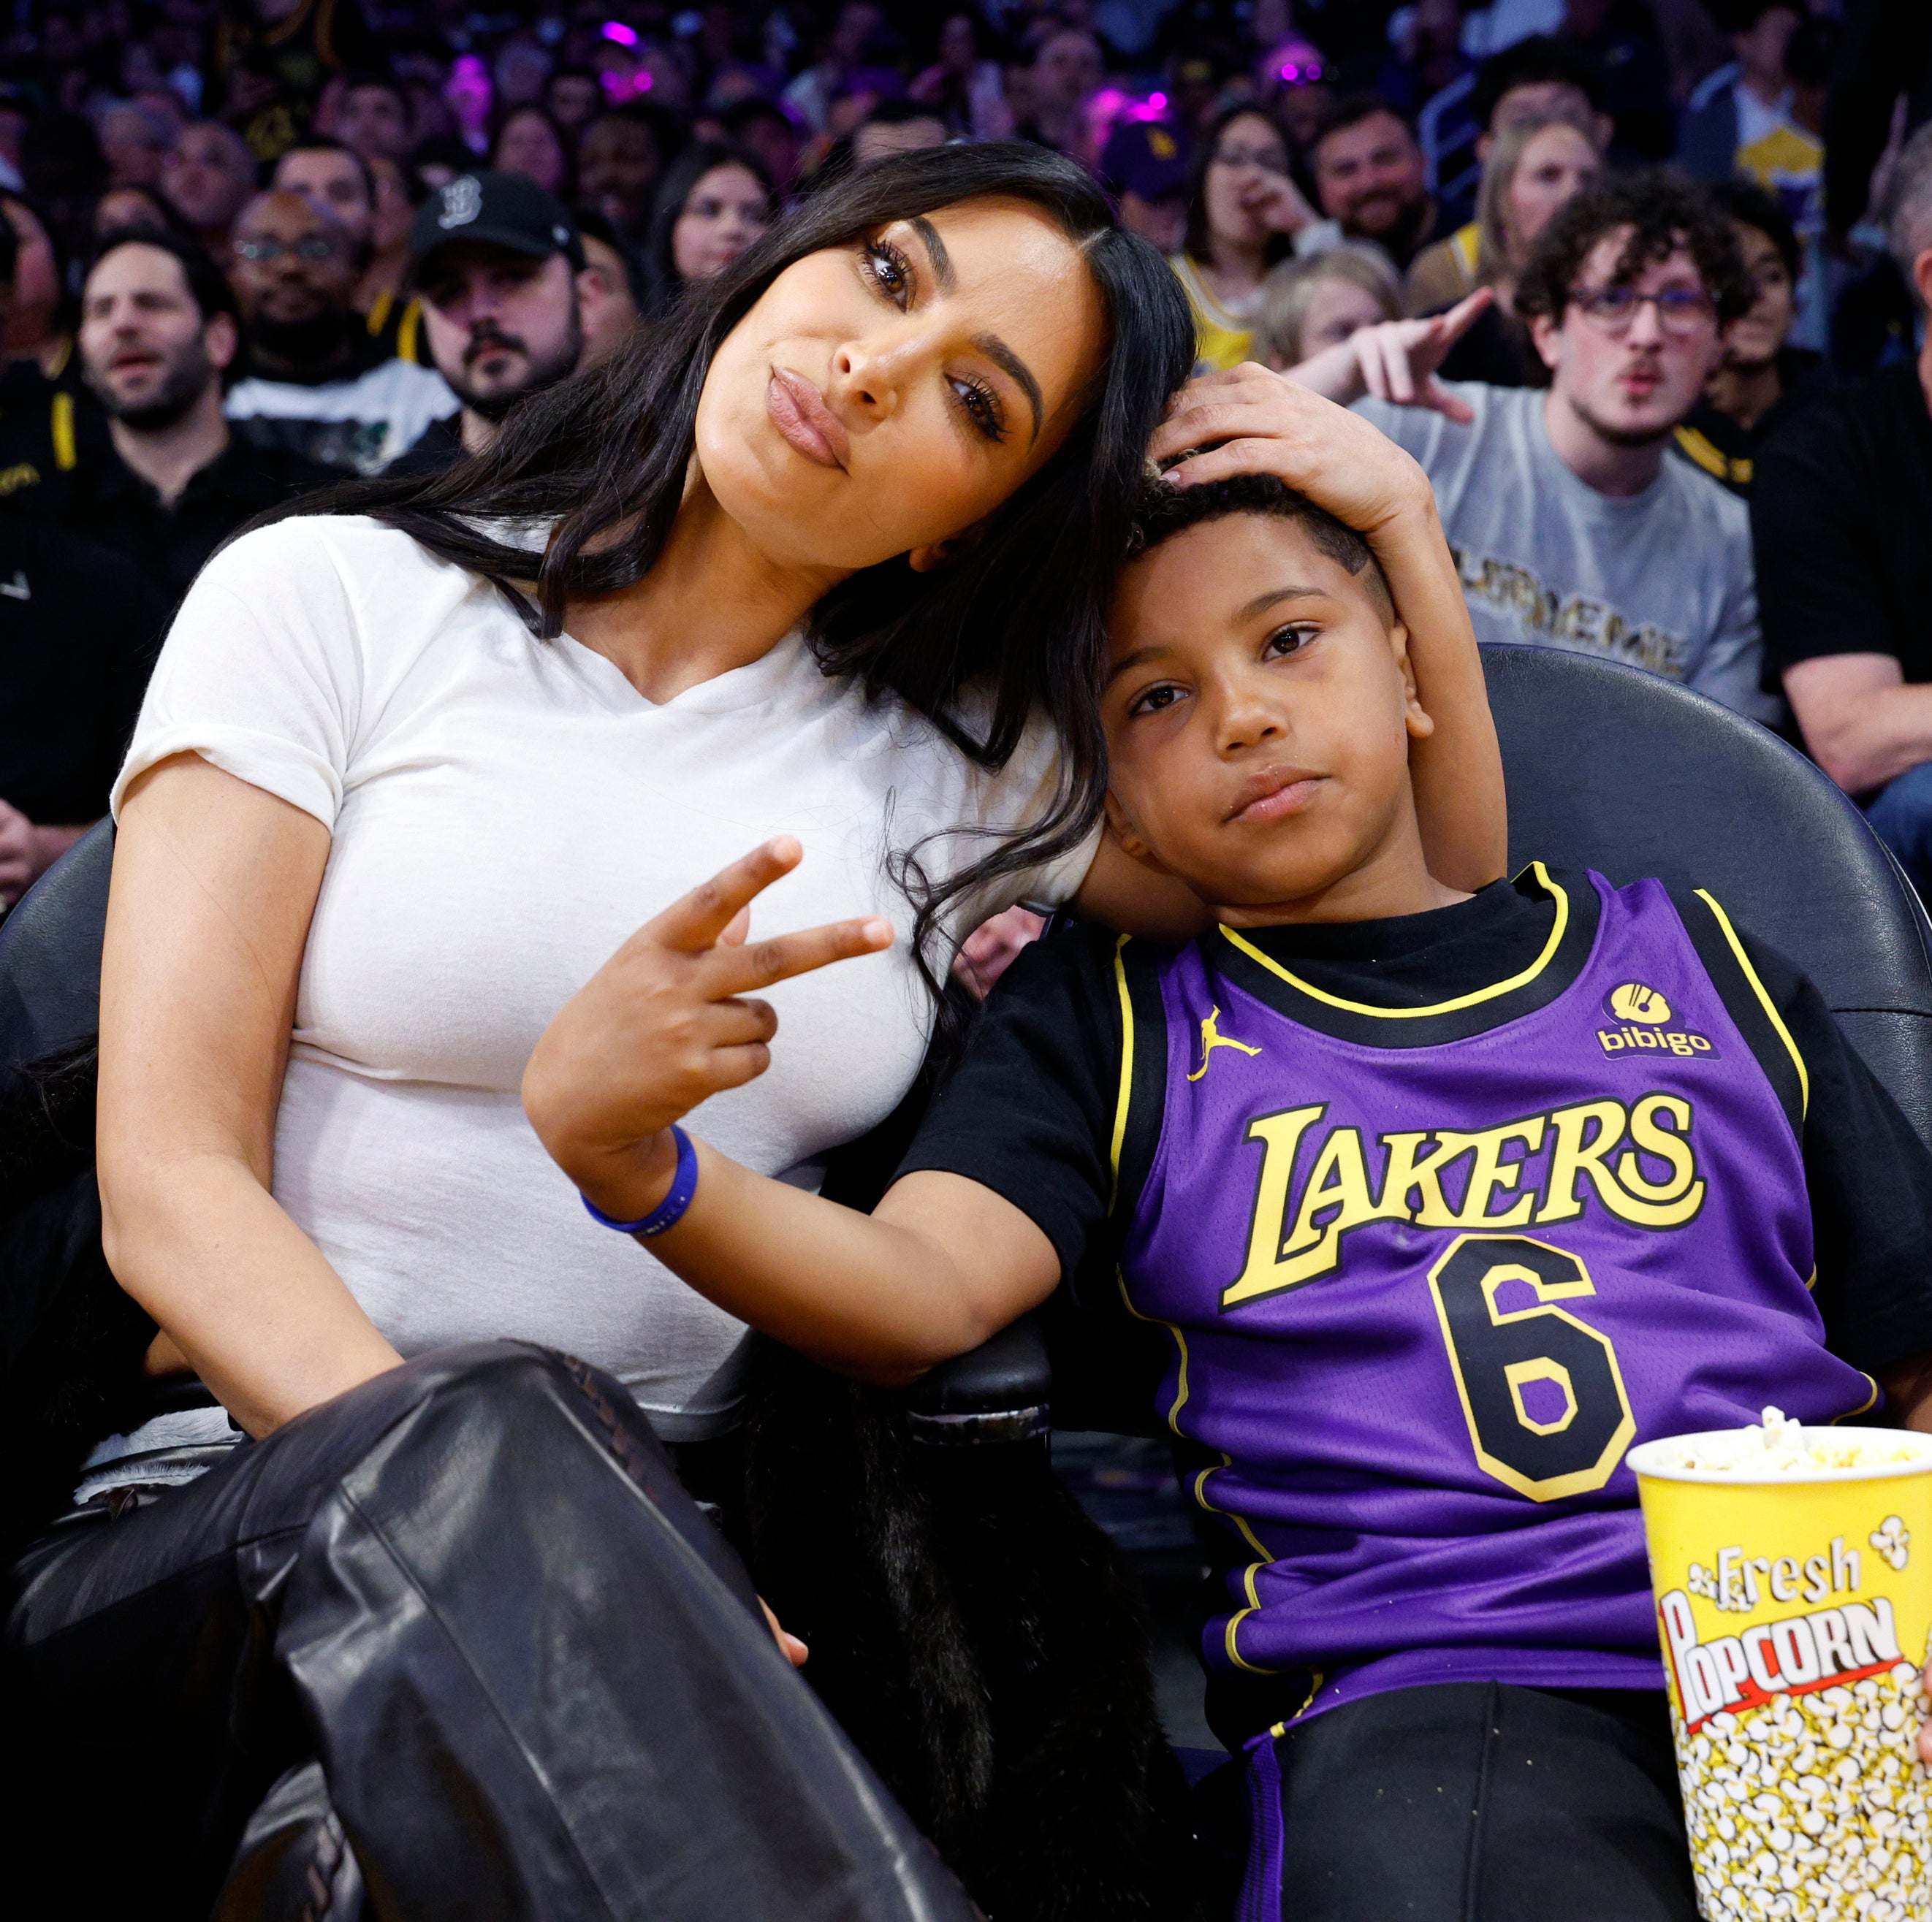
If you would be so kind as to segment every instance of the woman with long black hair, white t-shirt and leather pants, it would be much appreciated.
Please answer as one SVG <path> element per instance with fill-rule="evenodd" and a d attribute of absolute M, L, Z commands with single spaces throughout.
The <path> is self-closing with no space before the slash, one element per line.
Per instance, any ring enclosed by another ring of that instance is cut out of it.
<path fill-rule="evenodd" d="M 705 1912 L 806 1912 L 827 1878 L 912 1874 L 657 1453 L 734 1420 L 742 1331 L 585 1217 L 518 1082 L 639 921 L 775 833 L 806 858 L 748 975 L 869 958 L 781 981 L 784 1060 L 707 1109 L 767 1173 L 810 1178 L 896 1105 L 922 974 L 976 921 L 1171 916 L 1097 852 L 1080 688 L 1188 357 L 1171 276 L 1084 172 L 908 155 L 477 462 L 346 491 L 365 514 L 284 520 L 201 576 L 118 794 L 102 1240 L 153 1366 L 265 1439 L 137 1511 L 124 1487 L 17 1570 L 14 1725 L 44 1773 L 166 1762 L 89 1868 L 205 1914 L 274 1773 L 321 1752 L 371 1880 L 437 1912 L 504 1887 L 634 1912 L 672 1870 L 742 1880 Z M 1300 408 L 1279 438 L 1321 489 Z M 1426 495 L 1389 471 L 1327 498 L 1414 634 L 1441 871 L 1480 879 L 1480 666 Z"/>

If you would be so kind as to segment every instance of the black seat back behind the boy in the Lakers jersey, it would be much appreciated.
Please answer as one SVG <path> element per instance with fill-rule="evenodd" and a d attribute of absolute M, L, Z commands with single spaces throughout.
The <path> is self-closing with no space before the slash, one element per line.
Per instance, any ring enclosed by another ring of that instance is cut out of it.
<path fill-rule="evenodd" d="M 1675 682 L 1486 647 L 1509 863 L 1702 887 L 1812 981 L 1932 1149 L 1932 923 L 1864 815 L 1795 748 Z"/>

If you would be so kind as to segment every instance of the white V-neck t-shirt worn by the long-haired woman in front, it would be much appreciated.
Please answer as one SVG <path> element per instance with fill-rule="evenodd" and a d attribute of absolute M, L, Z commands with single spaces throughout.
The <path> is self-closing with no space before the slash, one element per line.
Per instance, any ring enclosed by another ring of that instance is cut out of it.
<path fill-rule="evenodd" d="M 753 933 L 860 914 L 887 954 L 769 989 L 771 1070 L 690 1126 L 765 1174 L 900 1101 L 929 1033 L 885 854 L 1036 819 L 1055 744 L 987 775 L 798 636 L 653 705 L 603 655 L 537 641 L 404 533 L 311 516 L 236 541 L 182 605 L 116 784 L 193 749 L 334 834 L 276 1120 L 274 1194 L 410 1356 L 524 1337 L 609 1368 L 670 1439 L 738 1397 L 744 1329 L 589 1221 L 518 1084 L 551 1016 L 632 931 L 777 833 L 804 862 Z M 949 842 L 952 865 L 985 852 Z M 1092 844 L 958 916 L 1063 902 Z"/>

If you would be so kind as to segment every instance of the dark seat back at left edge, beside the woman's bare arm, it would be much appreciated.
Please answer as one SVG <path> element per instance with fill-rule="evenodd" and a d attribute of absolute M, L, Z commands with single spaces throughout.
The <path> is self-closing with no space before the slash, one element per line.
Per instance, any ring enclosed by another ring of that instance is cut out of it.
<path fill-rule="evenodd" d="M 114 823 L 91 827 L 0 921 L 0 1066 L 17 1068 L 100 1022 L 100 937 Z"/>

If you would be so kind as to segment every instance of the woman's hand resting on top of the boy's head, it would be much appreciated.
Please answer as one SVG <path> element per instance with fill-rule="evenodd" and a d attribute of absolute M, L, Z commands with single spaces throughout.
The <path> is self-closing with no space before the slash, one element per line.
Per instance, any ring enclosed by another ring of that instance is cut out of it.
<path fill-rule="evenodd" d="M 1188 448 L 1208 452 L 1167 469 L 1177 487 L 1271 473 L 1358 533 L 1434 510 L 1428 475 L 1379 427 L 1254 361 L 1180 388 L 1148 456 Z"/>

